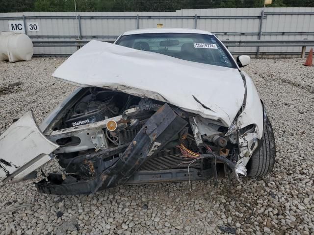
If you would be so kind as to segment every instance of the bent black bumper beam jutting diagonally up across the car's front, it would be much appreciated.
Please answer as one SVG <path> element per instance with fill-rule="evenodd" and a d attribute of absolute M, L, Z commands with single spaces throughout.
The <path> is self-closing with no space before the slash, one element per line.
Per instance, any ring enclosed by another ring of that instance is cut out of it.
<path fill-rule="evenodd" d="M 125 184 L 148 158 L 178 135 L 186 124 L 165 104 L 146 121 L 122 156 L 112 166 L 103 169 L 102 173 L 90 180 L 81 180 L 77 175 L 53 174 L 36 183 L 36 188 L 43 193 L 72 195 L 94 193 Z M 72 182 L 67 183 L 68 178 Z"/>

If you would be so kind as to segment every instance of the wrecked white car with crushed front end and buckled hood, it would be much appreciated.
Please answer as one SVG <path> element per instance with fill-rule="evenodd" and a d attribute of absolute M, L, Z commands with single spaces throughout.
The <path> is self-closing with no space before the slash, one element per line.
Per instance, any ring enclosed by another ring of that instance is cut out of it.
<path fill-rule="evenodd" d="M 18 182 L 52 158 L 64 168 L 35 183 L 51 194 L 122 184 L 263 176 L 275 141 L 251 78 L 218 38 L 191 29 L 126 32 L 91 41 L 53 74 L 80 87 L 37 127 L 31 112 L 0 137 L 0 179 Z"/>

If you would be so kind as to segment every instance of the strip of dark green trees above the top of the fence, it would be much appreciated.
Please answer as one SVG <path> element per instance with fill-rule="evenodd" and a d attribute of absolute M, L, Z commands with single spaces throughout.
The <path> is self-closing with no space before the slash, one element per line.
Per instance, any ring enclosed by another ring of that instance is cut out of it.
<path fill-rule="evenodd" d="M 76 0 L 77 11 L 175 11 L 263 7 L 264 0 Z M 314 7 L 314 0 L 273 0 L 266 7 Z M 74 0 L 0 0 L 0 12 L 75 11 Z"/>

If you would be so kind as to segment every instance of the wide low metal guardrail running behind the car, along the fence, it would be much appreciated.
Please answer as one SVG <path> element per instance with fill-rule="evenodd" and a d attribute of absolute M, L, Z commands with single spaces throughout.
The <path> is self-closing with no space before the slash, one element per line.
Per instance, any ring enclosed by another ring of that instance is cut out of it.
<path fill-rule="evenodd" d="M 114 38 L 107 36 L 107 38 Z M 114 41 L 102 40 L 105 42 L 113 43 Z M 76 40 L 76 41 L 33 41 L 34 47 L 83 47 L 90 42 L 89 40 Z M 226 47 L 302 47 L 301 58 L 304 58 L 306 47 L 313 47 L 314 40 L 240 40 L 240 41 L 222 41 Z"/>

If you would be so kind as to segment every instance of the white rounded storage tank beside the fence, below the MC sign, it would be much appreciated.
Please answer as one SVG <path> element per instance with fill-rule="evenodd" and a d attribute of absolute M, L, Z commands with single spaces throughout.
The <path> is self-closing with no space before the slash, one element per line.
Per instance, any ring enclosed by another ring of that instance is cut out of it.
<path fill-rule="evenodd" d="M 16 62 L 31 60 L 34 48 L 31 39 L 24 33 L 4 31 L 0 34 L 0 60 Z"/>

